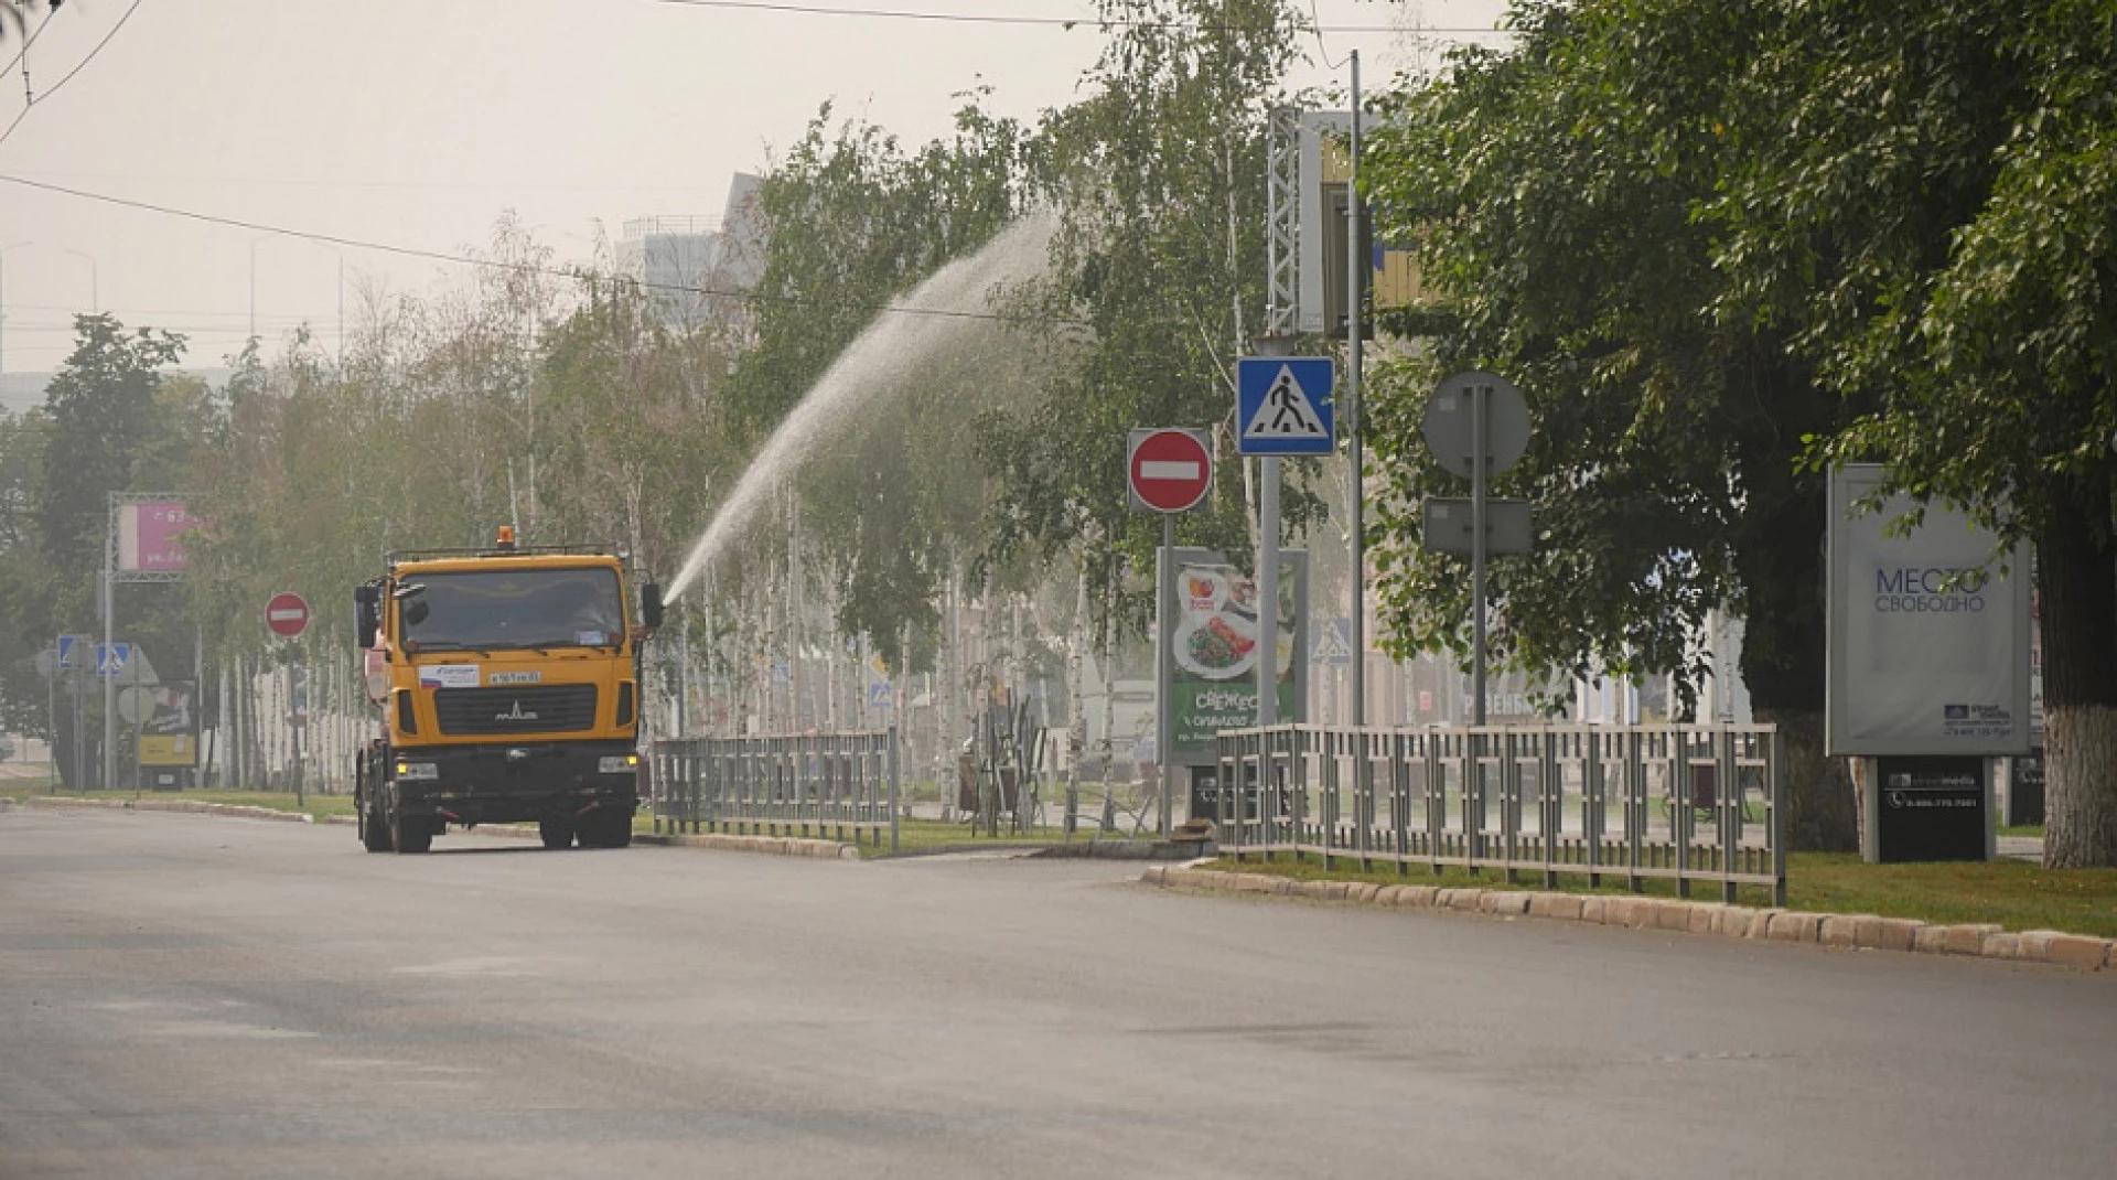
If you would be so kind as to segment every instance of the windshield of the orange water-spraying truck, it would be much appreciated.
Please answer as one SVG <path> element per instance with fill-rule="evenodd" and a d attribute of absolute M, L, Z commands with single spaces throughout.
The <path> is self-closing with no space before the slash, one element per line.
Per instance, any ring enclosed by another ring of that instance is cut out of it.
<path fill-rule="evenodd" d="M 618 646 L 618 572 L 491 570 L 409 574 L 396 589 L 411 650 Z"/>

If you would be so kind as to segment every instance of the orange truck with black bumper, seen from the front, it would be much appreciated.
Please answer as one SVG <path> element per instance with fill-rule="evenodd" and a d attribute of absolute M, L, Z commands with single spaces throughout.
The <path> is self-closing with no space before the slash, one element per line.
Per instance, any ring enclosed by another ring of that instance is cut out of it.
<path fill-rule="evenodd" d="M 661 593 L 608 547 L 392 553 L 356 589 L 379 733 L 354 786 L 368 852 L 447 824 L 536 822 L 546 847 L 625 847 L 639 803 L 639 648 Z"/>

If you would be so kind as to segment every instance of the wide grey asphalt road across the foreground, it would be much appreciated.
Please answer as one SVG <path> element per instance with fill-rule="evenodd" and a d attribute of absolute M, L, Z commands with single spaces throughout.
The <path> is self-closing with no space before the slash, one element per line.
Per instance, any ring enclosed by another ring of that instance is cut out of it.
<path fill-rule="evenodd" d="M 2117 979 L 0 811 L 0 1176 L 2117 1174 Z"/>

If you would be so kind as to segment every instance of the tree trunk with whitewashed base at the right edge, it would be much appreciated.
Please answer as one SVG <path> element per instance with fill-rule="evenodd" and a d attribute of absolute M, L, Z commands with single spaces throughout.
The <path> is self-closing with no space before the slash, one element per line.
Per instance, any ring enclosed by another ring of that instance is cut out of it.
<path fill-rule="evenodd" d="M 2109 481 L 2053 496 L 2043 608 L 2045 869 L 2117 864 L 2117 553 Z M 2096 523 L 2102 521 L 2102 528 Z"/>

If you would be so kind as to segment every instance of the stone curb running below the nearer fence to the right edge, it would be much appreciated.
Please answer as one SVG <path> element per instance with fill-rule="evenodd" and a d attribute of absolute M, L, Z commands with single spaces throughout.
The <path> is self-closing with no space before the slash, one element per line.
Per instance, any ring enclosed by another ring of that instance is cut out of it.
<path fill-rule="evenodd" d="M 2003 930 L 1990 922 L 1929 924 L 1876 913 L 1808 913 L 1797 909 L 1560 894 L 1535 890 L 1452 890 L 1437 886 L 1374 886 L 1365 881 L 1296 881 L 1272 873 L 1226 873 L 1156 864 L 1139 881 L 1162 888 L 1289 894 L 1389 909 L 1448 909 L 1492 917 L 1548 917 L 1632 930 L 1683 930 L 1770 943 L 1808 943 L 1857 951 L 1918 951 L 2041 962 L 2073 970 L 2117 972 L 2117 938 L 2064 930 Z"/>

